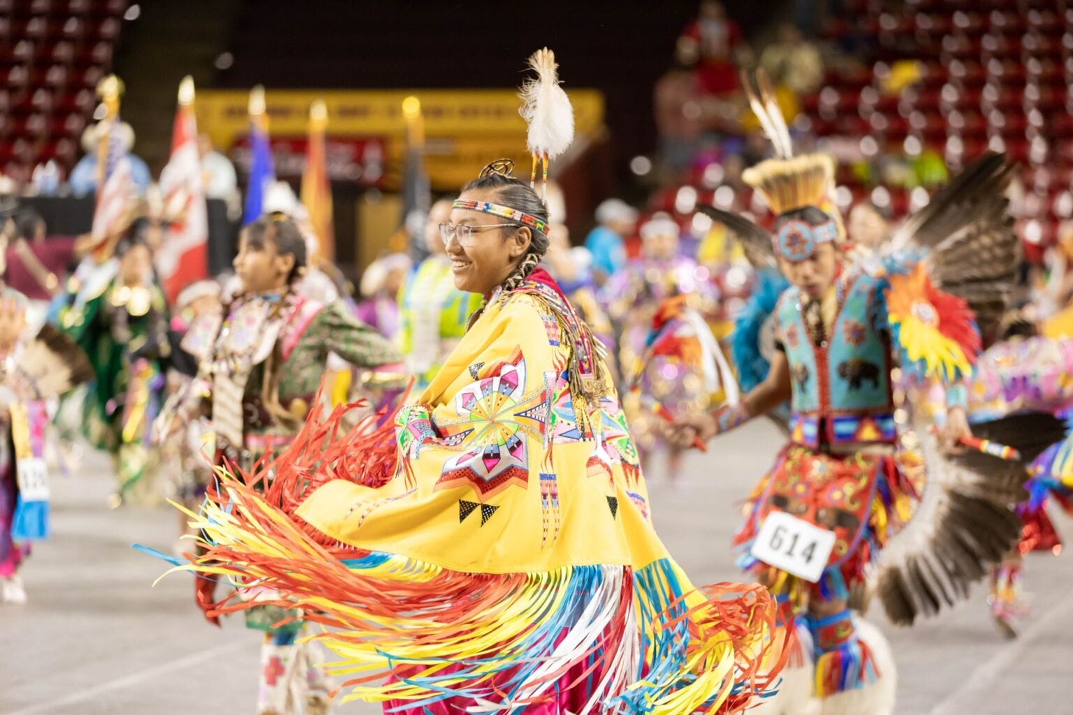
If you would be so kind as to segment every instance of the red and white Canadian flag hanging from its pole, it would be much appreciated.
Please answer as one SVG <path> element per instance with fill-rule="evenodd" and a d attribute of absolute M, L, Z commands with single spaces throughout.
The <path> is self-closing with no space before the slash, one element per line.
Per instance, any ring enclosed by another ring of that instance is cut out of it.
<path fill-rule="evenodd" d="M 172 157 L 160 175 L 164 217 L 170 223 L 157 254 L 157 270 L 168 302 L 174 302 L 183 287 L 208 275 L 208 212 L 197 153 L 193 81 L 188 77 L 183 85 L 188 81 L 189 88 L 179 89 Z"/>

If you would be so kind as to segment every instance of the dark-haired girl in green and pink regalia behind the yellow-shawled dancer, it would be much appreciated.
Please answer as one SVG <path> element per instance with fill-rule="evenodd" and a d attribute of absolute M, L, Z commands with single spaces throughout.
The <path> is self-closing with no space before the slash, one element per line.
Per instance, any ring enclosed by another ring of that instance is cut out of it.
<path fill-rule="evenodd" d="M 199 363 L 196 376 L 170 400 L 156 426 L 157 440 L 185 438 L 191 421 L 207 417 L 217 467 L 252 468 L 264 455 L 286 447 L 310 412 L 328 354 L 362 368 L 399 372 L 401 356 L 339 303 L 303 298 L 292 286 L 306 266 L 306 241 L 281 213 L 263 217 L 239 237 L 235 273 L 242 293 L 221 314 L 200 315 L 182 339 Z M 211 491 L 211 487 L 209 488 Z M 199 602 L 214 599 L 216 579 L 196 580 Z M 258 600 L 270 594 L 247 594 Z M 300 623 L 274 627 L 270 606 L 247 613 L 247 625 L 265 630 L 259 715 L 326 712 L 330 684 L 315 667 L 322 658 L 295 646 Z"/>

